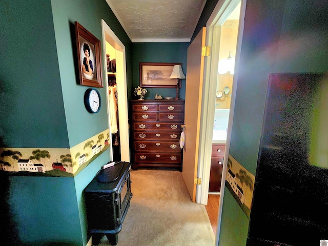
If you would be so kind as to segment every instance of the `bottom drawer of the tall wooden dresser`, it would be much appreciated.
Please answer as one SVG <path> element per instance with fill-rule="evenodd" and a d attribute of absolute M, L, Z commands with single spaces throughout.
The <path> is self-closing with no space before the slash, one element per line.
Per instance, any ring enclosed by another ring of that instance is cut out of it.
<path fill-rule="evenodd" d="M 178 164 L 181 163 L 181 153 L 151 153 L 137 152 L 134 154 L 136 163 Z"/>

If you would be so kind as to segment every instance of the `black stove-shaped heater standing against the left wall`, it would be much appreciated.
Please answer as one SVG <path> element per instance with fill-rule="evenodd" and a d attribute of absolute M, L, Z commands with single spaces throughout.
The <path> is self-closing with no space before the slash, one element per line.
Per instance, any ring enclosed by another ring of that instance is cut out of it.
<path fill-rule="evenodd" d="M 129 162 L 119 161 L 101 169 L 84 191 L 93 244 L 98 244 L 104 235 L 111 245 L 118 242 L 132 198 L 130 166 Z"/>

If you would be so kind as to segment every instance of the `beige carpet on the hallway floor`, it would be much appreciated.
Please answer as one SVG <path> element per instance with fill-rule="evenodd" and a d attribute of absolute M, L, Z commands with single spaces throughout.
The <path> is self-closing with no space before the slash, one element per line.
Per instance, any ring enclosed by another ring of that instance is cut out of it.
<path fill-rule="evenodd" d="M 118 246 L 214 245 L 206 209 L 191 201 L 181 172 L 132 170 L 131 180 L 133 197 Z M 106 236 L 99 245 L 110 245 Z"/>

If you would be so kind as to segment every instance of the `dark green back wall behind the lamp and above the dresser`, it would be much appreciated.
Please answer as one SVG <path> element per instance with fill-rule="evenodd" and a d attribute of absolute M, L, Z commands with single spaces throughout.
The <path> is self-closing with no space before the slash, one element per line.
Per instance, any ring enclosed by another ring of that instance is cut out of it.
<path fill-rule="evenodd" d="M 182 71 L 187 74 L 187 49 L 189 43 L 133 43 L 133 88 L 139 86 L 139 63 L 182 63 Z M 165 96 L 176 96 L 175 88 L 146 88 L 145 99 L 154 99 L 158 93 Z M 179 97 L 186 95 L 186 79 L 181 79 Z M 133 94 L 132 94 L 133 97 Z"/>

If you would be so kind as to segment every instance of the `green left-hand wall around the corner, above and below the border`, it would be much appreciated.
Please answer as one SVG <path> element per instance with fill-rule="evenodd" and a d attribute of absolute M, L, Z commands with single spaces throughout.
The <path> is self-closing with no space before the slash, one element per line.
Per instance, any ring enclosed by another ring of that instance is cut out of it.
<path fill-rule="evenodd" d="M 1 1 L 0 147 L 72 148 L 108 128 L 104 102 L 86 111 L 74 60 L 74 22 L 102 40 L 101 19 L 126 47 L 131 91 L 132 43 L 105 0 Z M 6 177 L 0 244 L 86 245 L 83 189 L 108 161 L 109 150 L 74 178 Z"/>

